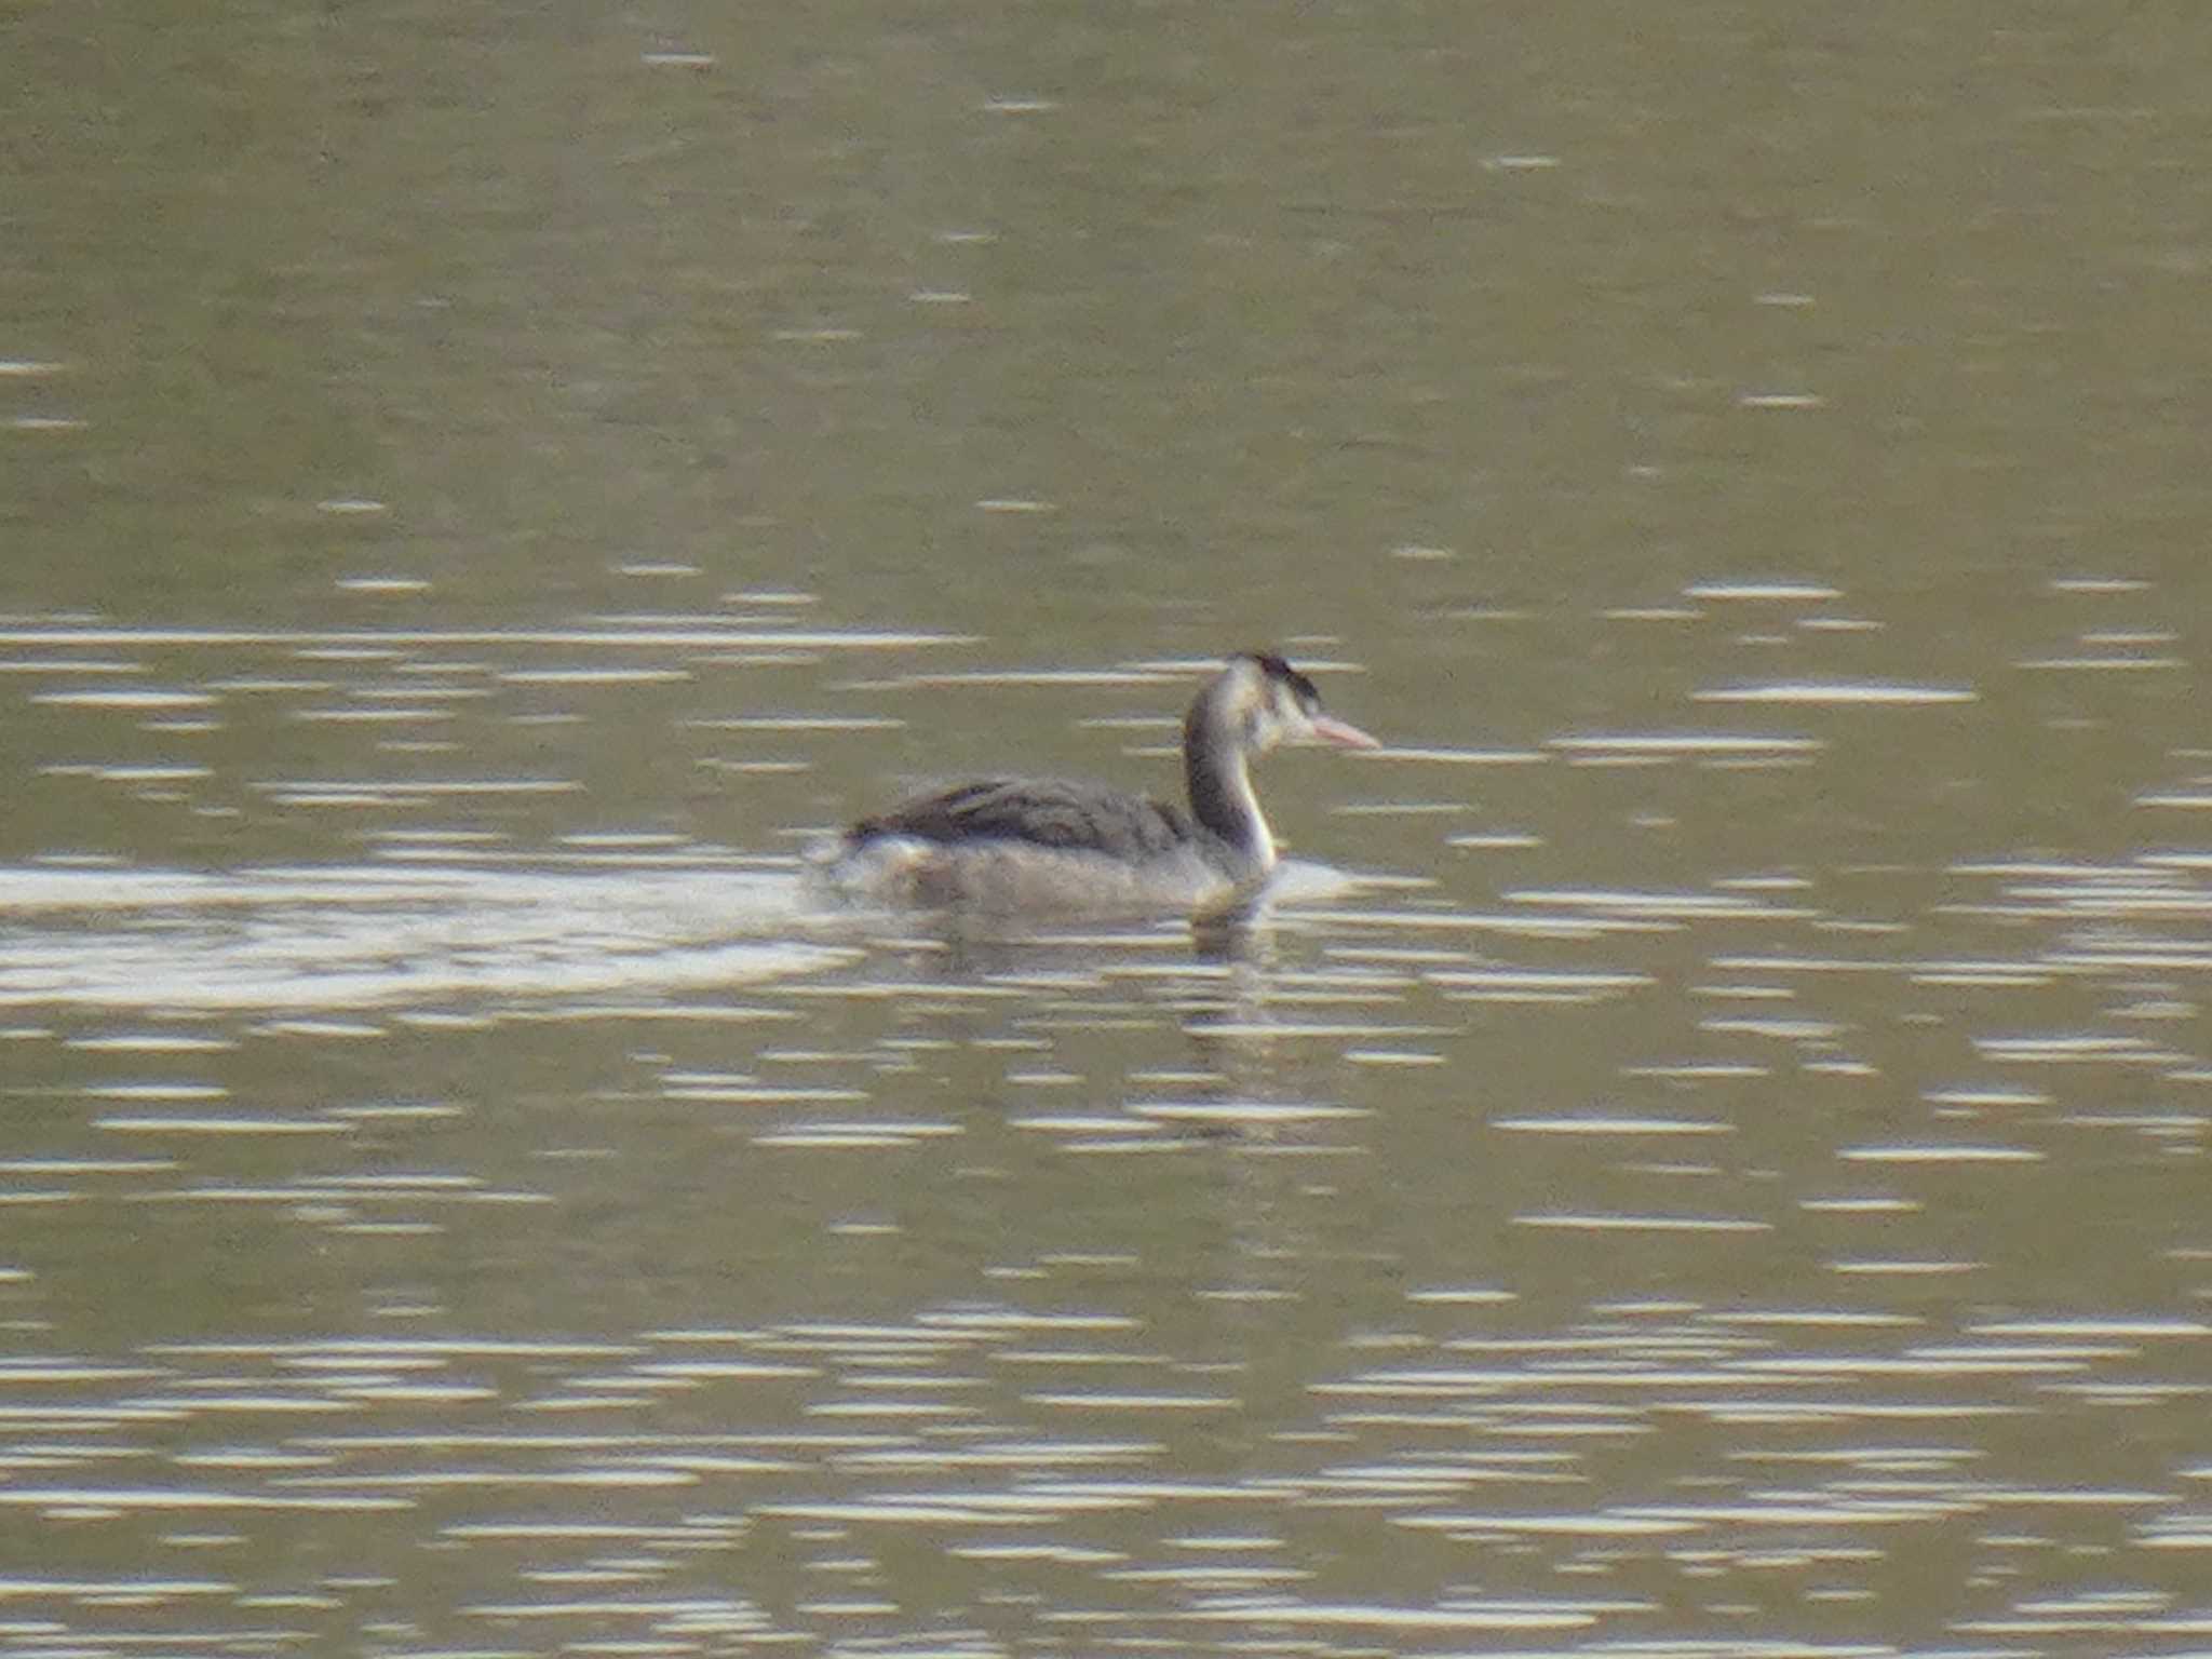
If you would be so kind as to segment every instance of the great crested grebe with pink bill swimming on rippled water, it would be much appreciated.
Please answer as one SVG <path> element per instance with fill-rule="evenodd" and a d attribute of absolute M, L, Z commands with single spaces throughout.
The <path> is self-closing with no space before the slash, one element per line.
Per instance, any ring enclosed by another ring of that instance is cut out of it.
<path fill-rule="evenodd" d="M 1276 743 L 1378 748 L 1314 681 L 1239 653 L 1183 717 L 1190 812 L 1104 783 L 975 779 L 860 818 L 812 854 L 832 894 L 929 909 L 1208 909 L 1256 891 L 1274 834 L 1252 794 Z"/>

